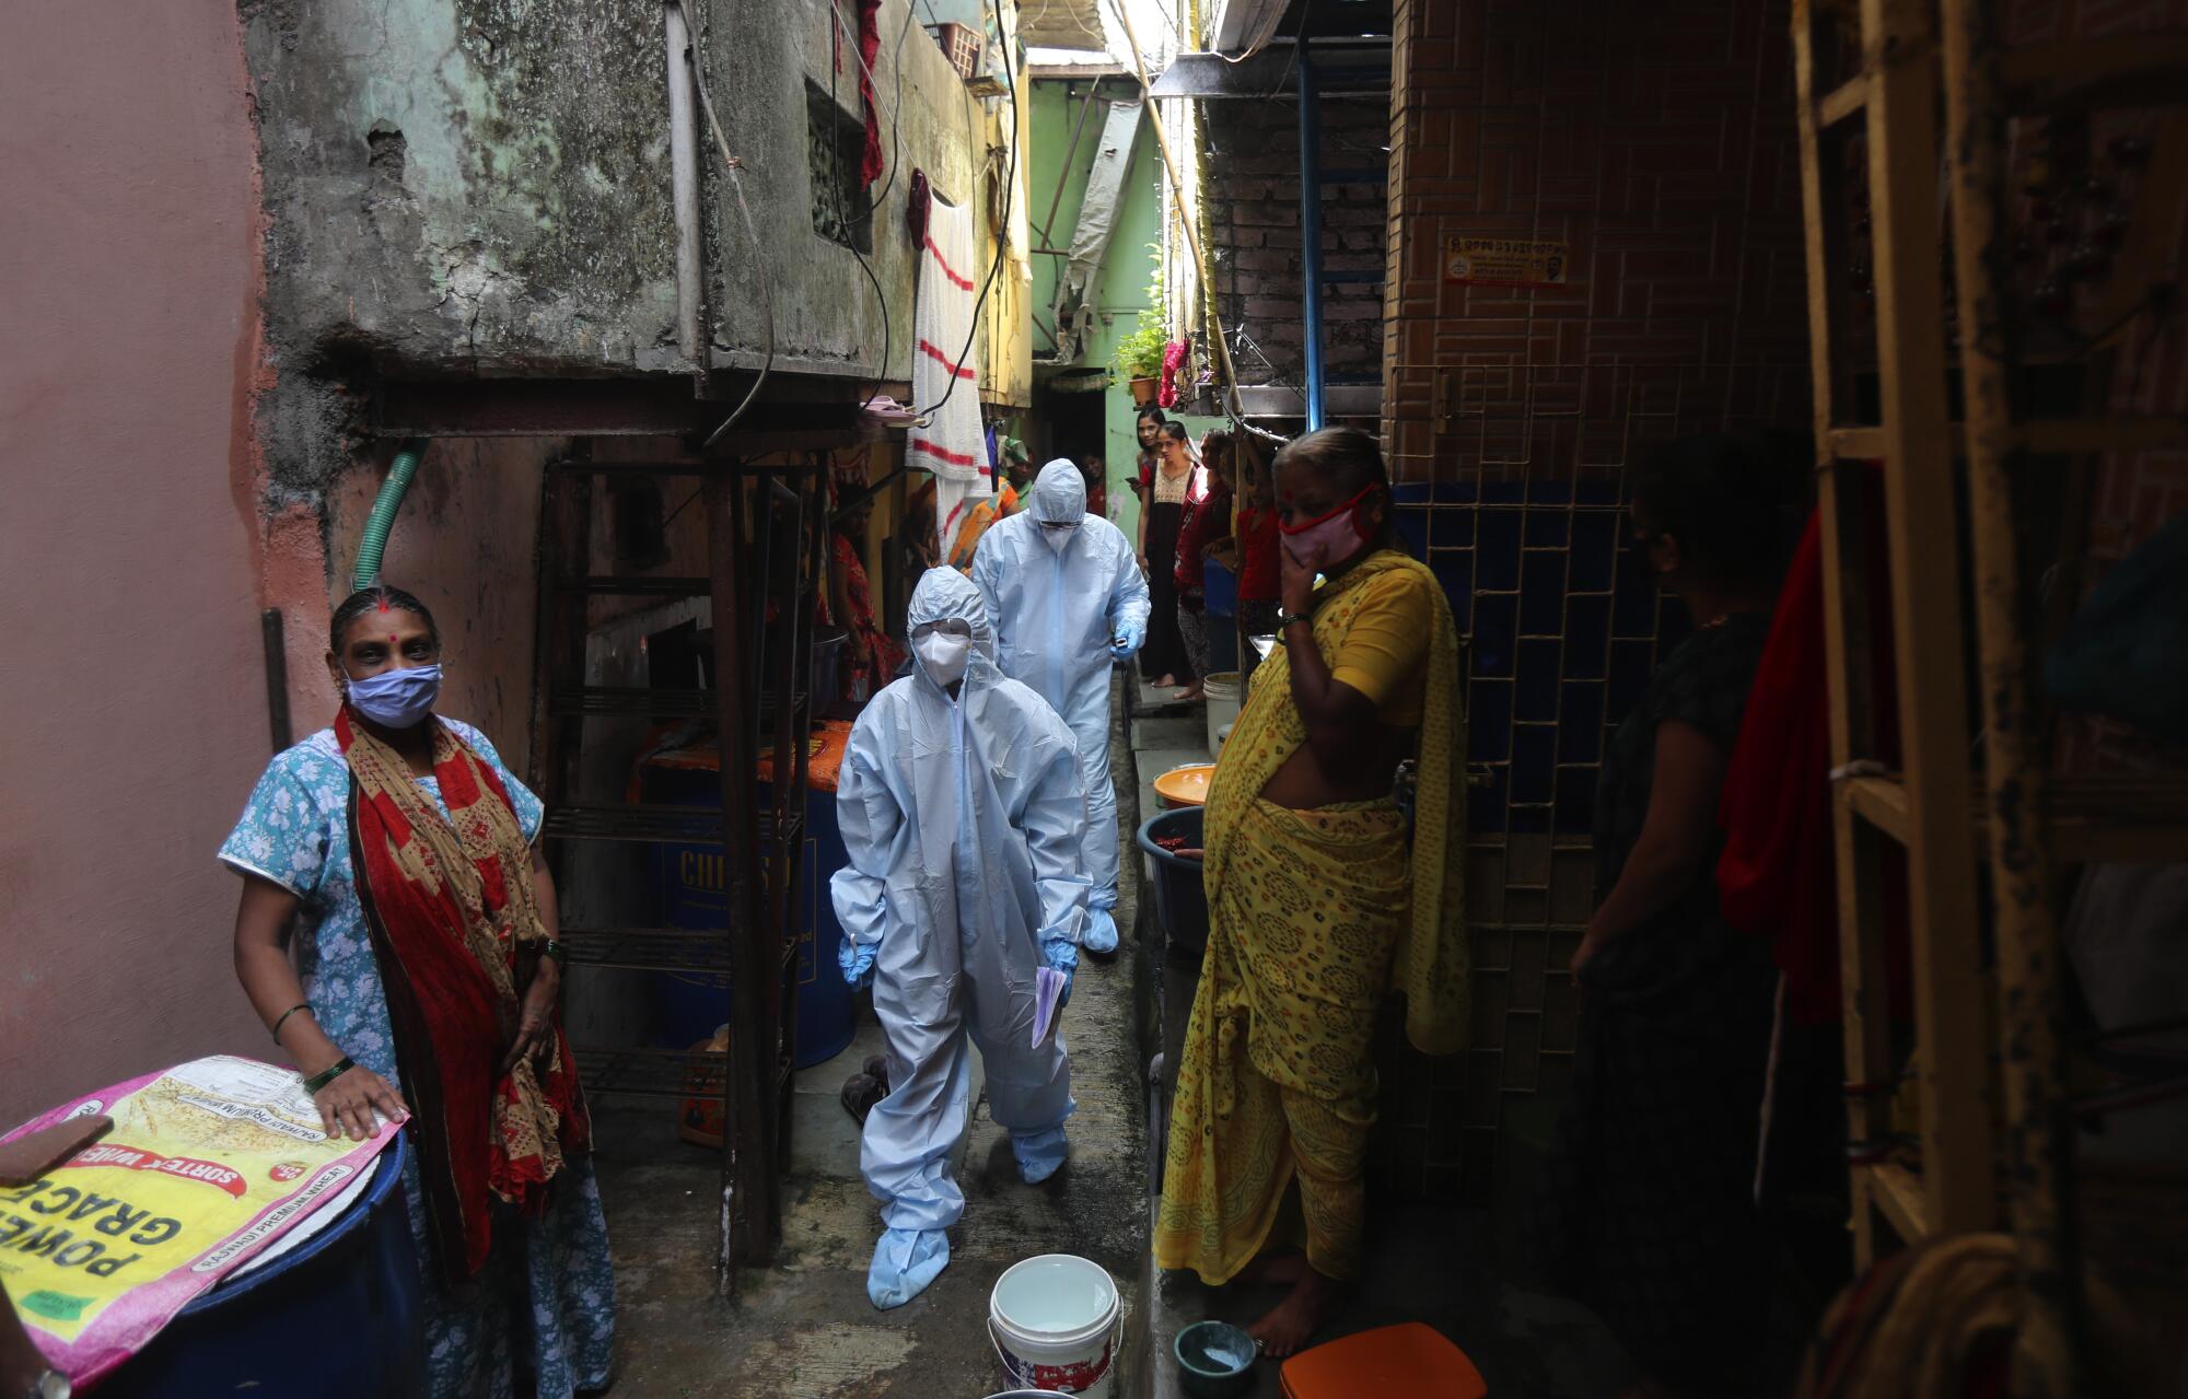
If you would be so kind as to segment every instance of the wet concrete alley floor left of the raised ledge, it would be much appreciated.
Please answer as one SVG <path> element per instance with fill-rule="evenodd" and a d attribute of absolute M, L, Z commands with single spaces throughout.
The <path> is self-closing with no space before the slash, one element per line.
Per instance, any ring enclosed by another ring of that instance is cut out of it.
<path fill-rule="evenodd" d="M 1136 894 L 1127 877 L 1116 912 L 1125 929 Z M 676 1139 L 670 1104 L 604 1106 L 597 1154 L 619 1290 L 617 1399 L 993 1395 L 1006 1384 L 987 1336 L 987 1296 L 1004 1268 L 1039 1253 L 1090 1257 L 1118 1281 L 1116 1392 L 1144 1392 L 1133 1349 L 1149 1333 L 1138 1021 L 1131 953 L 1081 962 L 1063 1010 L 1079 1102 L 1072 1156 L 1039 1187 L 1017 1178 L 976 1082 L 971 1130 L 958 1148 L 965 1220 L 950 1231 L 950 1268 L 895 1312 L 866 1301 L 880 1220 L 858 1174 L 858 1124 L 836 1100 L 877 1049 L 877 1025 L 864 1025 L 836 1062 L 799 1073 L 781 1259 L 775 1270 L 746 1270 L 737 1301 L 720 1301 L 713 1285 L 718 1156 Z"/>

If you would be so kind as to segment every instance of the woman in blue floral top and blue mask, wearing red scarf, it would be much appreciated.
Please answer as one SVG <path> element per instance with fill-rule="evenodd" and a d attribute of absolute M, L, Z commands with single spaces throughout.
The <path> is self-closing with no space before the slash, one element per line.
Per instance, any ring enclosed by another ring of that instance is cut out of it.
<path fill-rule="evenodd" d="M 416 597 L 350 597 L 326 662 L 335 726 L 274 759 L 221 846 L 243 874 L 236 975 L 328 1135 L 409 1113 L 433 1397 L 604 1388 L 615 1279 L 556 1025 L 540 802 L 479 730 L 433 717 L 440 630 Z"/>

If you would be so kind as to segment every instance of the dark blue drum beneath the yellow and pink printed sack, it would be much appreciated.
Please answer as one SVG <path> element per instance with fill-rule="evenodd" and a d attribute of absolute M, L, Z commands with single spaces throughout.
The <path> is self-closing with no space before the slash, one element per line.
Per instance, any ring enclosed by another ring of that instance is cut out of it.
<path fill-rule="evenodd" d="M 335 1222 L 184 1307 L 98 1386 L 101 1399 L 424 1395 L 418 1250 L 403 1202 L 407 1154 L 398 1132 Z"/>

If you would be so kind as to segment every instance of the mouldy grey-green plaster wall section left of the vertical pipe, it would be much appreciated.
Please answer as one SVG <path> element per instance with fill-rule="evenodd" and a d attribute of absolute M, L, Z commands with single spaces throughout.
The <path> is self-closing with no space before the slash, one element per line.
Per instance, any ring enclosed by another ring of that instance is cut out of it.
<path fill-rule="evenodd" d="M 280 348 L 457 372 L 674 363 L 659 4 L 243 15 Z"/>

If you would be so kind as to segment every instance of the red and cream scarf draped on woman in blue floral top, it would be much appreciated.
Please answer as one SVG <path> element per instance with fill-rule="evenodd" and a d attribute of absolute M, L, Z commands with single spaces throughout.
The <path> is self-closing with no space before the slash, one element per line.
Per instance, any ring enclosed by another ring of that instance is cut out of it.
<path fill-rule="evenodd" d="M 545 940 L 532 848 L 492 765 L 433 719 L 442 815 L 403 756 L 344 706 L 350 855 L 387 990 L 387 1019 L 424 1180 L 427 1231 L 451 1283 L 477 1277 L 492 1204 L 547 1209 L 567 1154 L 591 1145 L 560 1030 L 545 1069 L 499 1073 L 516 1038 L 516 949 Z"/>

